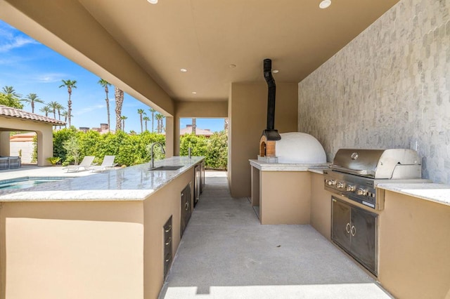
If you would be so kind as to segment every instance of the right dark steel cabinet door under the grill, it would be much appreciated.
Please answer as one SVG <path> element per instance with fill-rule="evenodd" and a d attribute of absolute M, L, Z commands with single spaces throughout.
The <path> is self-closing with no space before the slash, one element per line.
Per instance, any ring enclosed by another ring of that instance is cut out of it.
<path fill-rule="evenodd" d="M 376 274 L 377 215 L 361 208 L 352 208 L 351 250 L 354 258 Z"/>

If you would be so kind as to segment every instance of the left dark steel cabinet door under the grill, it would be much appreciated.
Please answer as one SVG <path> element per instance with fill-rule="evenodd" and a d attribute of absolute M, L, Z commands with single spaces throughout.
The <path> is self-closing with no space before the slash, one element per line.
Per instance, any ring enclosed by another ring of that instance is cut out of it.
<path fill-rule="evenodd" d="M 331 239 L 346 251 L 350 251 L 350 223 L 352 208 L 332 197 Z"/>

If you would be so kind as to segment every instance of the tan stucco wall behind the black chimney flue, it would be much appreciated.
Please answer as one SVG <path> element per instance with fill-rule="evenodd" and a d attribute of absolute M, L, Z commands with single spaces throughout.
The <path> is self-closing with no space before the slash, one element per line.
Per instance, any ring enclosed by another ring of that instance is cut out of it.
<path fill-rule="evenodd" d="M 297 128 L 297 84 L 276 84 L 275 128 L 279 133 Z M 232 197 L 250 197 L 251 175 L 248 159 L 257 159 L 259 138 L 266 128 L 267 84 L 231 84 L 229 98 L 228 180 Z"/>

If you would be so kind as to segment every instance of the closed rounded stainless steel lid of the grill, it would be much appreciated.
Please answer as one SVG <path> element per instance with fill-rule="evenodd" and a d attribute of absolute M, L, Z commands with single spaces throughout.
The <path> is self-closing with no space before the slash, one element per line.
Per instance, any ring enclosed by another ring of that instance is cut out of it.
<path fill-rule="evenodd" d="M 406 149 L 340 149 L 330 168 L 368 178 L 421 178 L 417 152 Z"/>

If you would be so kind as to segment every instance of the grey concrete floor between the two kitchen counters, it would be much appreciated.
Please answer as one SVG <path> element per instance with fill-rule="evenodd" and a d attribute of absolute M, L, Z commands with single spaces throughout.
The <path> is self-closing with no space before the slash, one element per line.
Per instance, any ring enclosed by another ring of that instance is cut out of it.
<path fill-rule="evenodd" d="M 391 298 L 310 225 L 260 225 L 207 172 L 160 298 Z"/>

